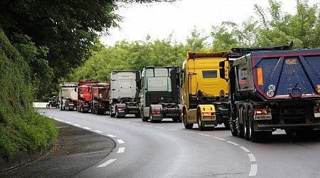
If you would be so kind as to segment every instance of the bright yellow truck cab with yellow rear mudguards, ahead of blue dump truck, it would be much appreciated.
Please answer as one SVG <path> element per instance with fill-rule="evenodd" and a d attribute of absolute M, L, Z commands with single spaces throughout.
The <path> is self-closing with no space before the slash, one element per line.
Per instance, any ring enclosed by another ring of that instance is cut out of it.
<path fill-rule="evenodd" d="M 195 123 L 199 130 L 218 124 L 229 128 L 228 82 L 220 78 L 219 69 L 229 52 L 187 52 L 181 70 L 182 120 L 186 129 Z"/>

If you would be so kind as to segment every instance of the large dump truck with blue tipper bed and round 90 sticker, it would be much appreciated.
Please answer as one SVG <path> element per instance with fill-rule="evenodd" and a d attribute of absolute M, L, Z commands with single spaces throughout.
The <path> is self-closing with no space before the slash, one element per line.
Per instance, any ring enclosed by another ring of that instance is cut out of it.
<path fill-rule="evenodd" d="M 304 135 L 320 128 L 320 49 L 233 48 L 228 54 L 232 135 L 252 142 L 277 129 Z M 221 70 L 225 63 L 220 63 Z"/>

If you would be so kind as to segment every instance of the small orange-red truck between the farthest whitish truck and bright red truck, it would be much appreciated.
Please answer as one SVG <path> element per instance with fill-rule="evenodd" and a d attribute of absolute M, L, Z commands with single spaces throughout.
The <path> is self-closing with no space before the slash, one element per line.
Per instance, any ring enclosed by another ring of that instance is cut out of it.
<path fill-rule="evenodd" d="M 78 83 L 78 112 L 89 112 L 92 85 L 99 81 L 79 81 Z"/>

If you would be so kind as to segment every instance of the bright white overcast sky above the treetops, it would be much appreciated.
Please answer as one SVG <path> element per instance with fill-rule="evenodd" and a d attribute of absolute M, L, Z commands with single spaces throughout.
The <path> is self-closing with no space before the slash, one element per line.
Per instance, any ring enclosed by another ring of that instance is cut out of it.
<path fill-rule="evenodd" d="M 309 5 L 318 1 L 309 0 Z M 296 14 L 296 2 L 282 0 L 282 12 Z M 176 41 L 185 43 L 195 27 L 198 31 L 210 34 L 211 27 L 223 21 L 241 23 L 249 16 L 257 20 L 254 4 L 265 11 L 269 6 L 268 0 L 181 0 L 172 4 L 134 4 L 119 8 L 117 14 L 124 17 L 123 22 L 119 23 L 121 29 L 110 29 L 110 36 L 102 37 L 101 41 L 113 46 L 116 41 L 123 39 L 129 42 L 145 41 L 148 34 L 152 39 L 164 39 L 172 33 Z"/>

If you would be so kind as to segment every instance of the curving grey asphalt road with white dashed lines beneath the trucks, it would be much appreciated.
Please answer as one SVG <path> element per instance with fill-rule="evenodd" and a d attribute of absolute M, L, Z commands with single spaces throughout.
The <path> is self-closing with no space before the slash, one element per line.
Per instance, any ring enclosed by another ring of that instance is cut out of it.
<path fill-rule="evenodd" d="M 255 143 L 231 136 L 223 125 L 199 131 L 172 120 L 151 123 L 54 108 L 40 112 L 117 143 L 110 155 L 75 177 L 320 177 L 320 136 L 297 139 L 279 130 Z"/>

